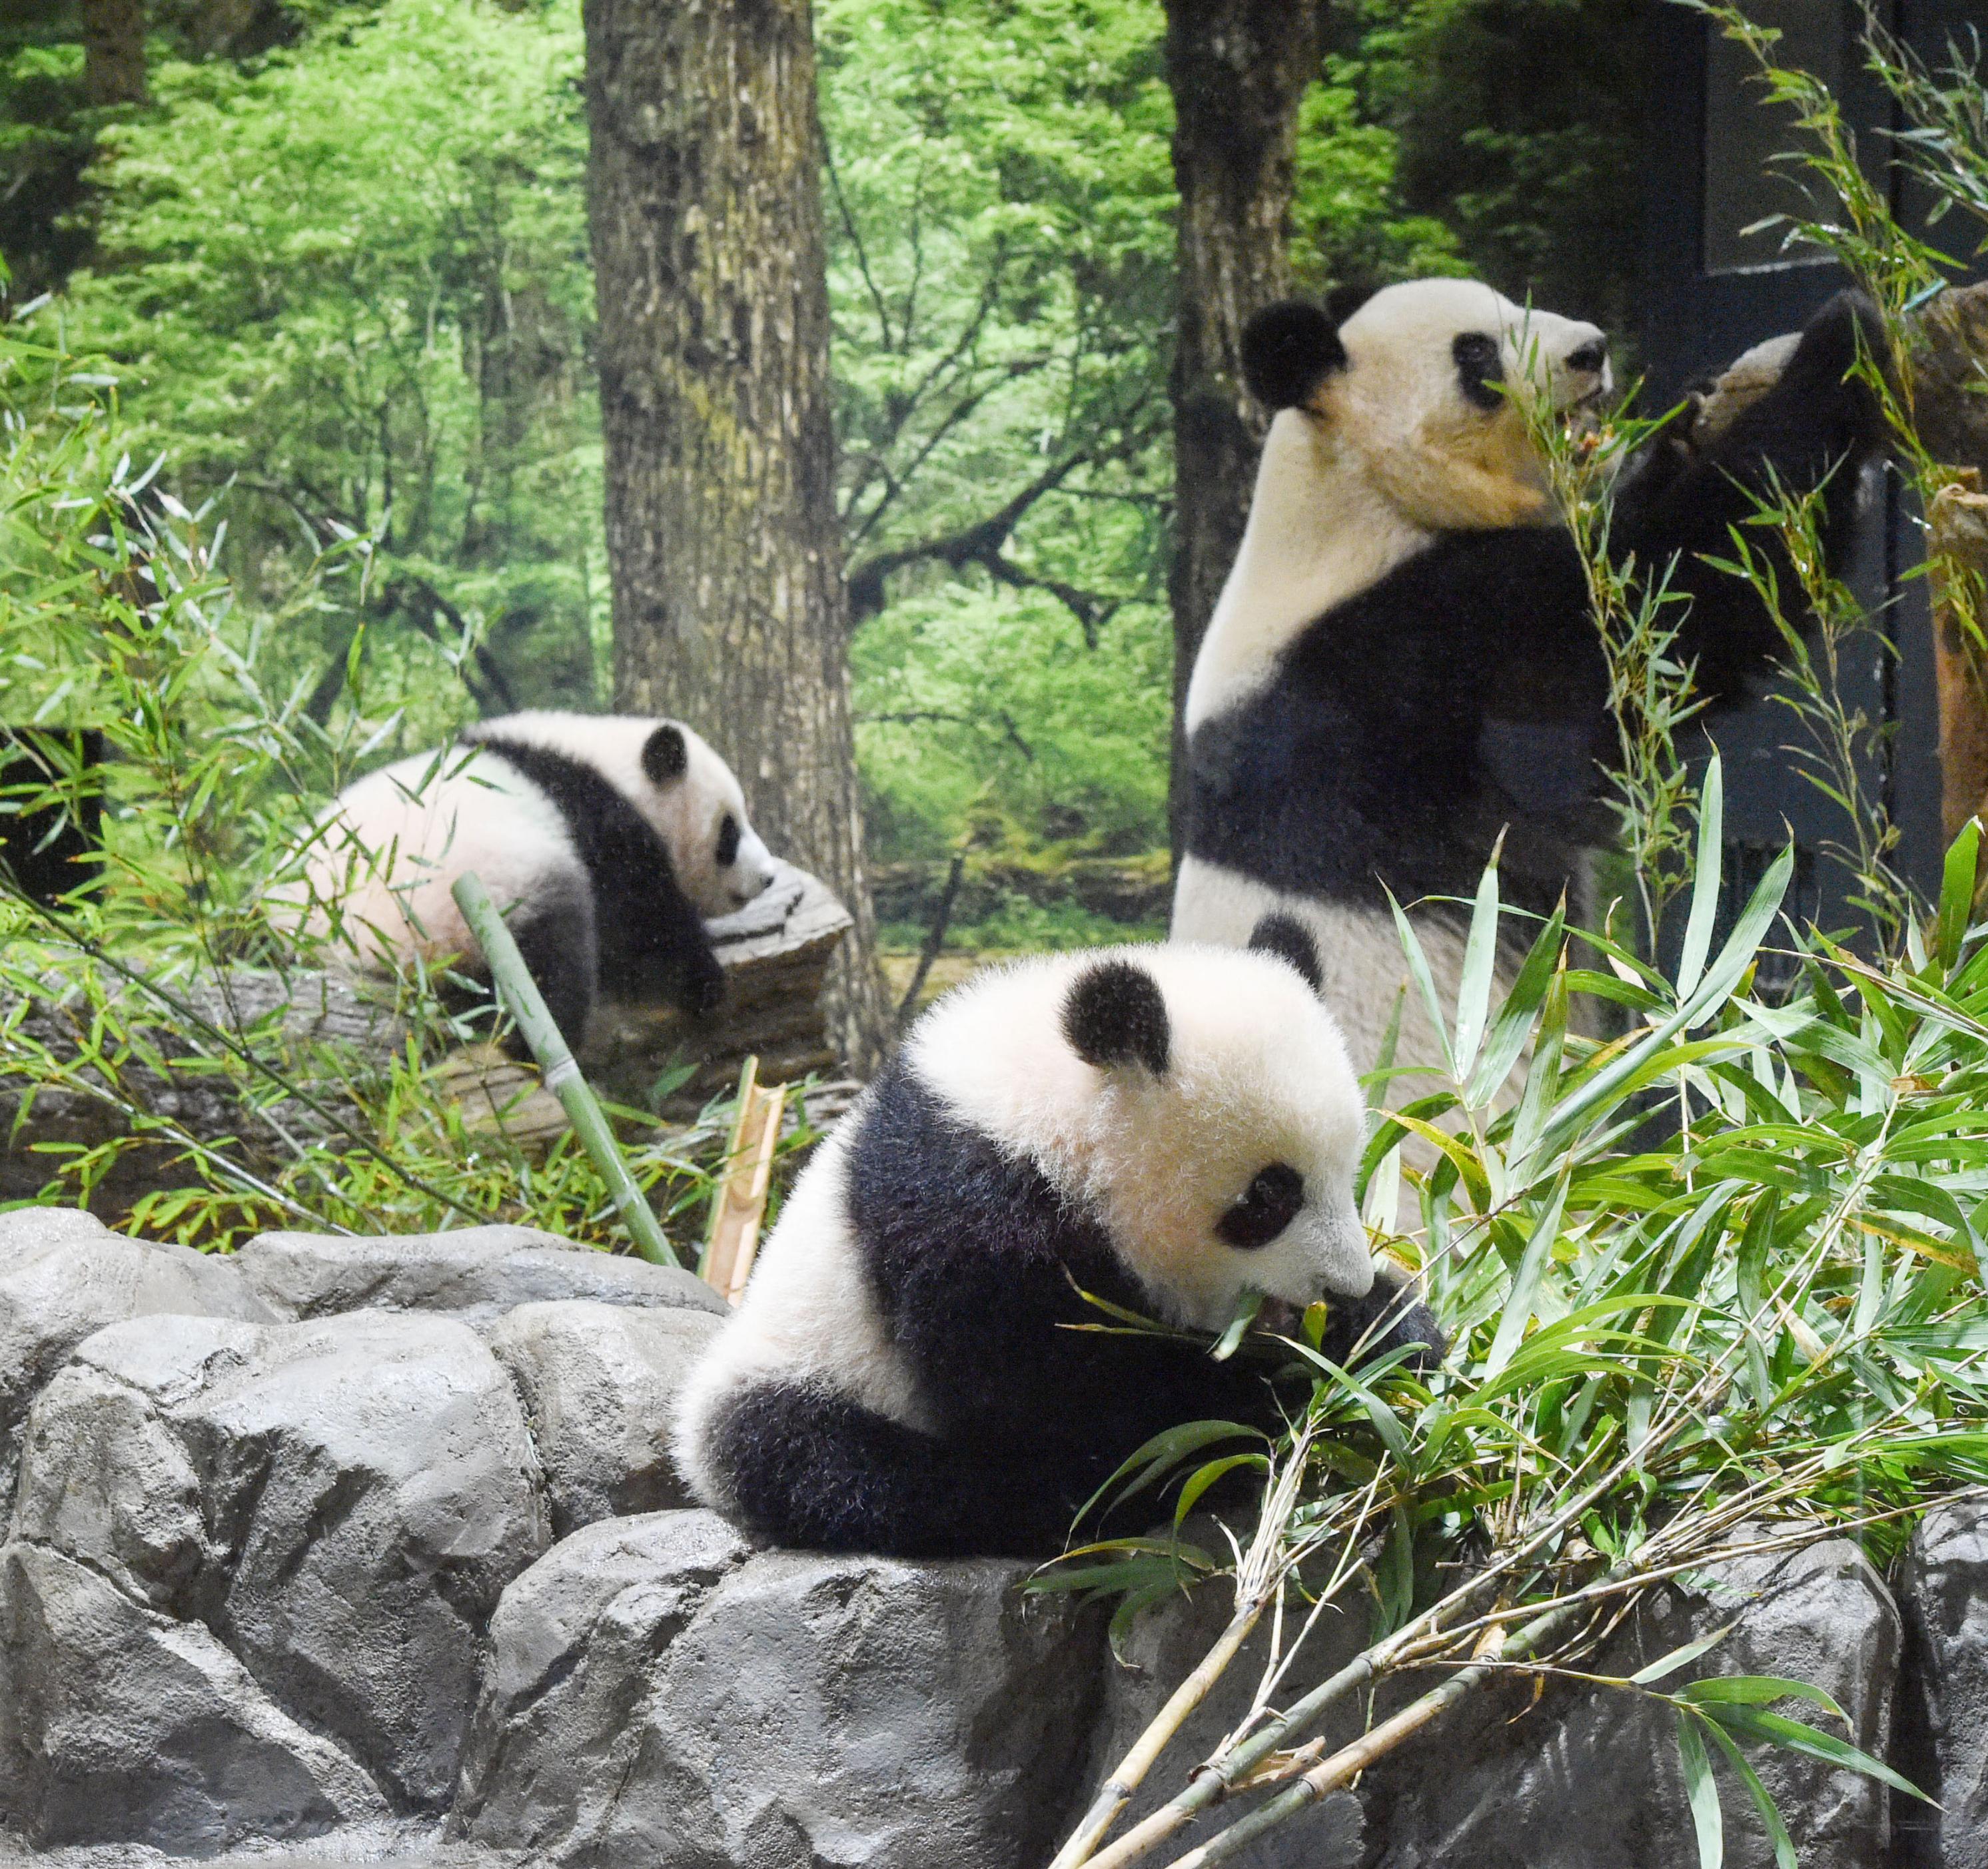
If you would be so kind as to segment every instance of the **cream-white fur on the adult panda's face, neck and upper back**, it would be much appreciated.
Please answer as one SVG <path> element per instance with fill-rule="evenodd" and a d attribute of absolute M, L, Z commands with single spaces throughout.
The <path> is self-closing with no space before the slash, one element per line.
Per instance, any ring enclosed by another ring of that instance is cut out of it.
<path fill-rule="evenodd" d="M 1463 332 L 1499 338 L 1511 394 L 1495 410 L 1457 384 Z M 1346 368 L 1270 424 L 1242 547 L 1187 686 L 1187 730 L 1262 688 L 1304 624 L 1435 533 L 1551 523 L 1527 410 L 1539 396 L 1567 408 L 1606 394 L 1606 364 L 1567 364 L 1600 336 L 1463 278 L 1408 280 L 1360 306 L 1340 326 Z"/>

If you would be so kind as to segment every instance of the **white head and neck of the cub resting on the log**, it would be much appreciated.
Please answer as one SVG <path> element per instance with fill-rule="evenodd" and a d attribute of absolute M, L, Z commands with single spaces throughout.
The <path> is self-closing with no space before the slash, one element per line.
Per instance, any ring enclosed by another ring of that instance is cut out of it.
<path fill-rule="evenodd" d="M 535 710 L 485 720 L 465 740 L 519 740 L 600 773 L 662 837 L 700 915 L 730 915 L 773 881 L 732 767 L 680 720 Z"/>

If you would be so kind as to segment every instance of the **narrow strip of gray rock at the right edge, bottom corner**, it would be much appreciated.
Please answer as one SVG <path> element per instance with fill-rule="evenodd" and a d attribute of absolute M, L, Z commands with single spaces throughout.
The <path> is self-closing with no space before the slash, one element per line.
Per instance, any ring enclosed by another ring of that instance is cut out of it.
<path fill-rule="evenodd" d="M 1940 1799 L 1893 1801 L 1914 1869 L 1988 1869 L 1988 1501 L 1926 1513 L 1899 1579 L 1906 1666 L 1901 1770 Z"/>

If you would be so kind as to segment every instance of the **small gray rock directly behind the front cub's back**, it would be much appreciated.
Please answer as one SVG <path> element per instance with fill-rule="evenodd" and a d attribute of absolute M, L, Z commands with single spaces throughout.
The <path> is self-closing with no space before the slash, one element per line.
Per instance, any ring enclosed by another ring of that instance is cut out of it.
<path fill-rule="evenodd" d="M 553 1503 L 553 1535 L 692 1505 L 670 1463 L 670 1412 L 724 1320 L 569 1298 L 519 1304 L 489 1334 L 511 1372 Z"/>

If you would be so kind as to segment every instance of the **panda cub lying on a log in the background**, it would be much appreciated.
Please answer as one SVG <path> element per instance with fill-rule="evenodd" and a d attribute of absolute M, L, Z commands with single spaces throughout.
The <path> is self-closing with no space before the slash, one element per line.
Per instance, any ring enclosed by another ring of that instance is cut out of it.
<path fill-rule="evenodd" d="M 306 853 L 308 929 L 378 966 L 465 956 L 449 893 L 475 871 L 567 1042 L 596 998 L 712 1012 L 724 970 L 704 917 L 771 881 L 740 783 L 676 720 L 507 714 L 348 785 Z"/>

